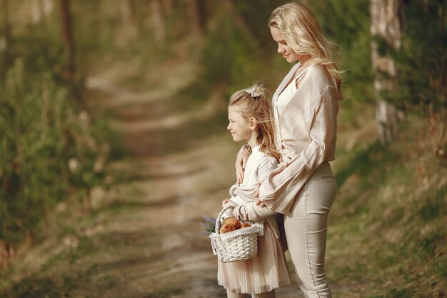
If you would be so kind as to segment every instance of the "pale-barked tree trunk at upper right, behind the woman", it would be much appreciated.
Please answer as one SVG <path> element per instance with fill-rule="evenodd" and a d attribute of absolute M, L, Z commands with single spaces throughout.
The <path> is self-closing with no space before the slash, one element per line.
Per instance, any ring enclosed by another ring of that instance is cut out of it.
<path fill-rule="evenodd" d="M 401 47 L 400 8 L 401 0 L 371 0 L 371 60 L 375 73 L 378 138 L 382 144 L 391 141 L 398 133 L 398 120 L 403 117 L 403 112 L 384 99 L 383 94 L 397 86 L 398 74 L 393 59 L 379 54 L 377 39 L 385 41 L 393 49 Z"/>

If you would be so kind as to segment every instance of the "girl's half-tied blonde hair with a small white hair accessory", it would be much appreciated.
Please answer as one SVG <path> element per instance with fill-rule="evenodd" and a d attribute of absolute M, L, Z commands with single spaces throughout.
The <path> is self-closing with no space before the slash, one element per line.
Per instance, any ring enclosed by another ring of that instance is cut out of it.
<path fill-rule="evenodd" d="M 236 91 L 230 97 L 228 107 L 237 106 L 243 119 L 247 122 L 254 117 L 258 124 L 256 140 L 259 150 L 279 162 L 280 154 L 275 146 L 273 115 L 270 103 L 266 98 L 267 89 L 261 84 L 253 84 L 250 88 Z"/>

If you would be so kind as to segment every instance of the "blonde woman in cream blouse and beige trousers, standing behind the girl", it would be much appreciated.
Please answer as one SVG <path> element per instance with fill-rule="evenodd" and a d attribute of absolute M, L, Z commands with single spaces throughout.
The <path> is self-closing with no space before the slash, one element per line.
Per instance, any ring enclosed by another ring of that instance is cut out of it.
<path fill-rule="evenodd" d="M 306 297 L 331 297 L 324 260 L 328 213 L 336 196 L 335 159 L 341 79 L 315 16 L 301 3 L 275 9 L 268 21 L 278 53 L 294 63 L 273 94 L 281 163 L 259 187 L 258 204 L 284 214 L 298 284 Z M 238 181 L 248 154 L 236 161 Z"/>

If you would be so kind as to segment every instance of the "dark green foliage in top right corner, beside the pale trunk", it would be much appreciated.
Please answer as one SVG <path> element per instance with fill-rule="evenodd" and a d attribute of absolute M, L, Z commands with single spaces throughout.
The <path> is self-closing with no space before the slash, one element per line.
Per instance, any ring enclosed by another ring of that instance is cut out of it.
<path fill-rule="evenodd" d="M 402 46 L 392 53 L 401 81 L 395 99 L 433 111 L 447 108 L 446 11 L 446 1 L 404 2 Z"/>

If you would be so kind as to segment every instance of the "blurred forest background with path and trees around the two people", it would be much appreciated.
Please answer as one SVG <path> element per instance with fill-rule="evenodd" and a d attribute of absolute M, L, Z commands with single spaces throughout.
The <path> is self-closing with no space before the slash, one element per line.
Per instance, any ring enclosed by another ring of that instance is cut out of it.
<path fill-rule="evenodd" d="M 226 297 L 200 222 L 286 2 L 0 0 L 0 297 Z M 333 297 L 446 297 L 447 1 L 303 2 L 345 71 Z"/>

